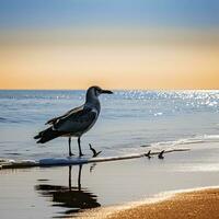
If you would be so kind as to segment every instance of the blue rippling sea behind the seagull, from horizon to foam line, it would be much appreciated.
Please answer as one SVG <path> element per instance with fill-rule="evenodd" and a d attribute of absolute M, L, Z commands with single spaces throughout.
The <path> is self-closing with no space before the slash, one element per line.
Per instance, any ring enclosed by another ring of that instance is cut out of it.
<path fill-rule="evenodd" d="M 68 139 L 37 145 L 33 137 L 48 119 L 84 103 L 85 91 L 1 90 L 0 157 L 41 159 L 68 155 Z M 219 91 L 114 91 L 100 96 L 101 114 L 82 137 L 103 155 L 136 152 L 140 146 L 177 146 L 219 140 Z M 78 154 L 77 140 L 72 150 Z"/>

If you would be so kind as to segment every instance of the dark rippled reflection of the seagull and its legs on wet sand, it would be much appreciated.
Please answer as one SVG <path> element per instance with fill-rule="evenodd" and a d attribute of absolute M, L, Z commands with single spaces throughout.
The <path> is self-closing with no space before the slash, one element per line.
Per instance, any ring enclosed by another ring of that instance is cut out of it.
<path fill-rule="evenodd" d="M 65 210 L 64 216 L 59 218 L 71 217 L 72 214 L 79 212 L 89 208 L 100 207 L 101 204 L 97 203 L 97 197 L 89 192 L 87 188 L 81 187 L 81 172 L 82 165 L 79 165 L 78 172 L 78 186 L 73 187 L 71 185 L 71 169 L 69 166 L 69 185 L 48 185 L 38 184 L 35 189 L 45 197 L 51 197 L 53 206 L 69 208 Z"/>

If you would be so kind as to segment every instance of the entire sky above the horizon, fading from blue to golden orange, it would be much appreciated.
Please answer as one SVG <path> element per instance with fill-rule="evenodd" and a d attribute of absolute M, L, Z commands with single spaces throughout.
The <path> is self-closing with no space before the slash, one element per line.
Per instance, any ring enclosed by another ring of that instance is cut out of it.
<path fill-rule="evenodd" d="M 219 89 L 217 0 L 1 0 L 0 89 Z"/>

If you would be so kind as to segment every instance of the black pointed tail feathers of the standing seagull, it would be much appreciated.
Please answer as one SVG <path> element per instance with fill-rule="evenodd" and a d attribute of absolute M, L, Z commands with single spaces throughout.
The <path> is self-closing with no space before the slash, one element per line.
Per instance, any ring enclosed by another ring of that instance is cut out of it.
<path fill-rule="evenodd" d="M 38 135 L 36 135 L 34 137 L 34 139 L 39 139 L 38 141 L 36 141 L 37 143 L 45 143 L 49 140 L 53 140 L 54 138 L 57 138 L 61 136 L 61 132 L 60 131 L 57 131 L 57 130 L 53 130 L 53 128 L 47 128 L 43 131 L 41 131 Z"/>

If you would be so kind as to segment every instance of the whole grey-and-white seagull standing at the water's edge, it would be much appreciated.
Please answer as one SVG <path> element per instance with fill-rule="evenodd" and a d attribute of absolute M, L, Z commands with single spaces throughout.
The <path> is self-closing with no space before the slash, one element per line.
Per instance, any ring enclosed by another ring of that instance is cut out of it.
<path fill-rule="evenodd" d="M 113 94 L 110 90 L 100 87 L 91 87 L 87 91 L 85 103 L 66 114 L 49 119 L 45 125 L 50 125 L 47 129 L 38 132 L 34 139 L 39 139 L 37 143 L 45 143 L 58 137 L 68 137 L 69 157 L 71 152 L 71 137 L 78 138 L 79 157 L 82 157 L 81 136 L 89 131 L 95 124 L 101 112 L 99 95 Z"/>

